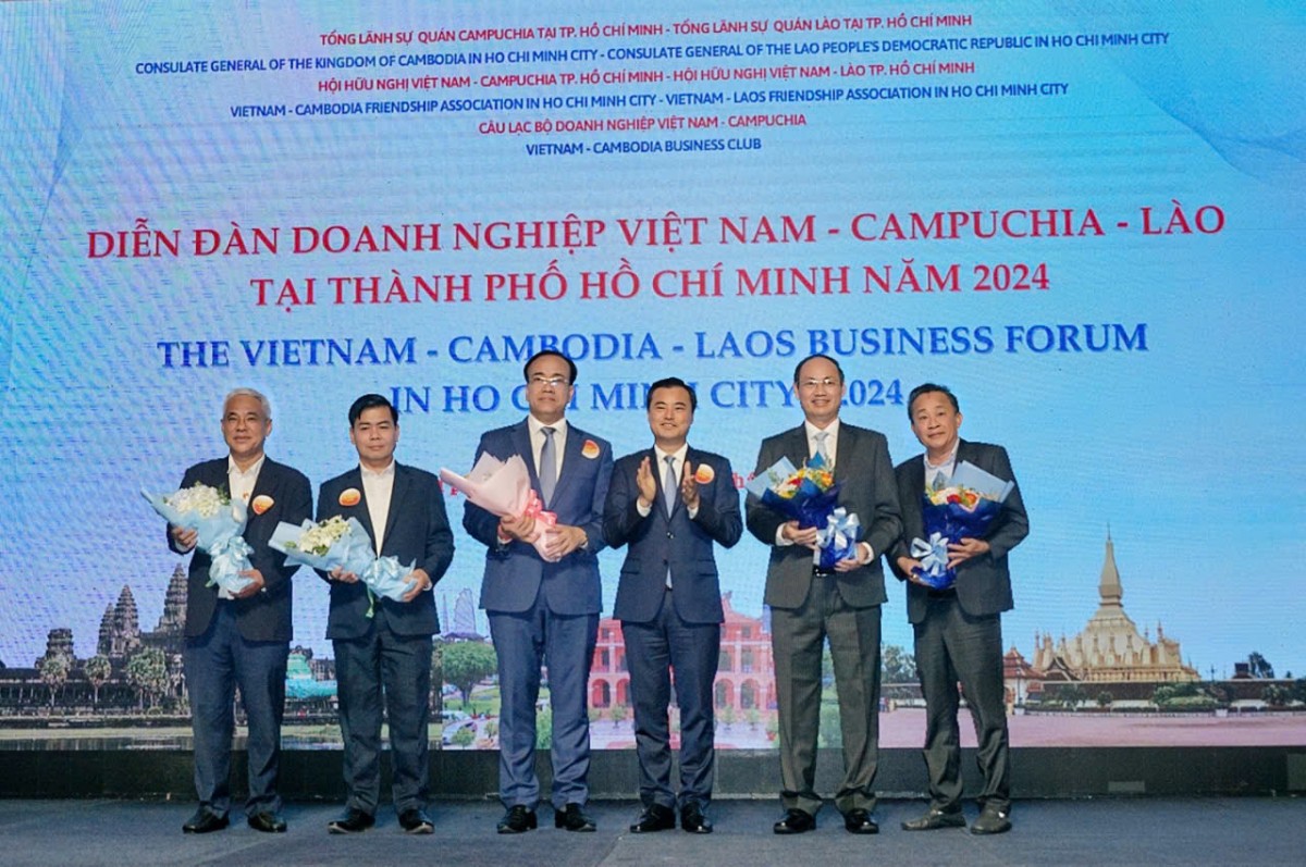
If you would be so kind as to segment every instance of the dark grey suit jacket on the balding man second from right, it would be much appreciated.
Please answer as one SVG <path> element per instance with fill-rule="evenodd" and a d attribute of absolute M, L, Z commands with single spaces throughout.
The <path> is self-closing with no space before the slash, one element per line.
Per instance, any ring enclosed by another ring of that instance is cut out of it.
<path fill-rule="evenodd" d="M 765 473 L 781 457 L 788 457 L 794 466 L 807 461 L 807 432 L 802 424 L 763 440 L 755 474 Z M 841 483 L 838 505 L 857 514 L 862 524 L 862 541 L 870 543 L 875 552 L 875 559 L 867 565 L 838 573 L 838 591 L 854 608 L 880 605 L 888 598 L 880 555 L 902 534 L 897 486 L 884 435 L 840 419 L 835 481 Z M 811 548 L 777 546 L 776 530 L 788 518 L 751 494 L 747 512 L 748 531 L 771 546 L 763 602 L 776 608 L 801 607 L 812 581 Z"/>

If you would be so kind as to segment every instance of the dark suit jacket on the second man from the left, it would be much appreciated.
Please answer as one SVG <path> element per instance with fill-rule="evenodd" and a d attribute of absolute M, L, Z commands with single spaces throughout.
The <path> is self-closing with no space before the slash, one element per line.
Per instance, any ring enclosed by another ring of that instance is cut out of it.
<path fill-rule="evenodd" d="M 358 503 L 342 505 L 341 494 L 351 488 L 359 494 Z M 324 482 L 317 492 L 317 520 L 325 521 L 336 514 L 346 520 L 358 518 L 367 529 L 375 550 L 376 537 L 367 508 L 367 492 L 363 490 L 363 473 L 357 466 Z M 431 473 L 394 464 L 394 488 L 390 491 L 390 508 L 385 517 L 381 556 L 393 556 L 405 567 L 415 563 L 417 568 L 426 569 L 431 576 L 431 584 L 444 577 L 453 561 L 453 531 L 444 511 L 440 481 Z M 376 606 L 384 611 L 387 624 L 397 635 L 435 635 L 440 631 L 434 593 L 419 593 L 411 602 L 377 597 Z M 367 585 L 362 581 L 332 581 L 326 637 L 358 638 L 367 635 L 372 628 L 367 607 Z"/>

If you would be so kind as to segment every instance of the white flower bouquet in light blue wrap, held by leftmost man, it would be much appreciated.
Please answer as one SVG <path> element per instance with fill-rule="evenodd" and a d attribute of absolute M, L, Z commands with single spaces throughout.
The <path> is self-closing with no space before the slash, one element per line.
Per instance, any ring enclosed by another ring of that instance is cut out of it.
<path fill-rule="evenodd" d="M 240 575 L 251 568 L 253 551 L 240 535 L 249 517 L 244 503 L 232 503 L 225 491 L 200 482 L 172 494 L 150 494 L 142 488 L 141 496 L 168 524 L 196 531 L 195 547 L 212 559 L 209 586 L 218 588 L 218 597 L 232 599 L 249 586 L 251 578 Z"/>

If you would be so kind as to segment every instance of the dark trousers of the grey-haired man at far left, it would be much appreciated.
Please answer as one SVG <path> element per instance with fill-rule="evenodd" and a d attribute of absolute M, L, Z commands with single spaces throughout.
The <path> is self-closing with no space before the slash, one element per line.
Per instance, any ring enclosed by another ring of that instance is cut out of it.
<path fill-rule="evenodd" d="M 185 686 L 195 735 L 195 791 L 200 806 L 225 816 L 231 808 L 231 735 L 235 691 L 240 687 L 249 722 L 249 796 L 246 812 L 281 810 L 277 765 L 281 717 L 286 709 L 285 641 L 247 641 L 236 628 L 235 607 L 219 602 L 209 629 L 185 640 Z"/>

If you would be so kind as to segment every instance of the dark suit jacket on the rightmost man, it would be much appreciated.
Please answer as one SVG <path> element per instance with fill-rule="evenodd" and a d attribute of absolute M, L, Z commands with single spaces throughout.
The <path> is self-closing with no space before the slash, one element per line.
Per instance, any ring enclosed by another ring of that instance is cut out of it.
<path fill-rule="evenodd" d="M 1007 449 L 1000 445 L 961 440 L 957 444 L 957 466 L 963 461 L 974 464 L 1007 482 L 1016 481 L 1011 461 L 1007 458 Z M 897 559 L 910 556 L 909 546 L 913 538 L 925 538 L 925 518 L 921 513 L 921 499 L 925 495 L 925 456 L 917 454 L 902 461 L 895 467 L 893 474 L 897 477 L 899 503 L 902 508 L 902 538 L 889 555 L 889 565 L 893 568 L 893 575 L 906 584 L 908 619 L 912 623 L 921 623 L 925 620 L 929 591 L 919 584 L 906 581 L 906 575 L 897 568 Z M 1007 552 L 1020 544 L 1027 535 L 1029 535 L 1029 518 L 1025 514 L 1025 503 L 1020 499 L 1020 484 L 1016 484 L 1007 495 L 1002 512 L 983 534 L 989 552 L 970 558 L 957 567 L 957 602 L 963 611 L 982 616 L 1010 611 L 1013 607 Z"/>

